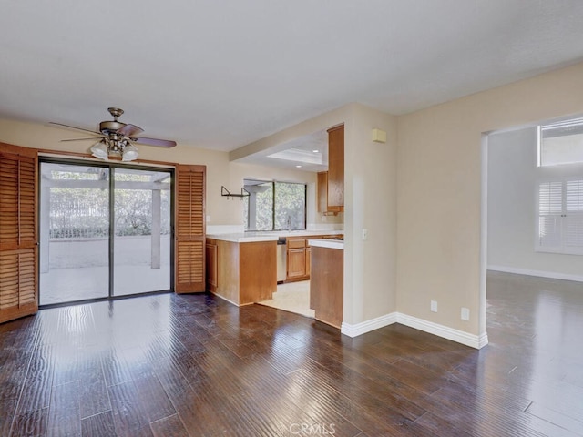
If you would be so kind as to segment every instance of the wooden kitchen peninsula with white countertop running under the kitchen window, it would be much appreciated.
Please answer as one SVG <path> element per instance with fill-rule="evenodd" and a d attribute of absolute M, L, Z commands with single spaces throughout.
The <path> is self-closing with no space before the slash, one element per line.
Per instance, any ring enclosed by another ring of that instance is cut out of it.
<path fill-rule="evenodd" d="M 321 239 L 341 233 L 331 230 L 296 230 L 208 234 L 207 290 L 235 305 L 271 300 L 277 290 L 278 240 L 302 237 Z"/>

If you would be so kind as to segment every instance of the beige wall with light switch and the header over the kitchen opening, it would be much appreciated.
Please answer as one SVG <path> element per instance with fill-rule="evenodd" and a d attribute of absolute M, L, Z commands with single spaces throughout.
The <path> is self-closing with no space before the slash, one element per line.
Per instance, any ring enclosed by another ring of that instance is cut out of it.
<path fill-rule="evenodd" d="M 230 153 L 243 158 L 344 123 L 344 319 L 355 325 L 396 308 L 396 117 L 350 104 Z M 387 132 L 373 143 L 372 130 Z M 369 239 L 363 241 L 362 231 Z"/>

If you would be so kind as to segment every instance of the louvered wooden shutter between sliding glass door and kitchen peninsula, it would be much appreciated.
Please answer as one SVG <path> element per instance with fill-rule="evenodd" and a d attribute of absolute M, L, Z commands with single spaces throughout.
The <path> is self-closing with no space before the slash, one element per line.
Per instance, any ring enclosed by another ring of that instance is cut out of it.
<path fill-rule="evenodd" d="M 205 290 L 205 166 L 176 168 L 176 275 L 174 290 Z"/>

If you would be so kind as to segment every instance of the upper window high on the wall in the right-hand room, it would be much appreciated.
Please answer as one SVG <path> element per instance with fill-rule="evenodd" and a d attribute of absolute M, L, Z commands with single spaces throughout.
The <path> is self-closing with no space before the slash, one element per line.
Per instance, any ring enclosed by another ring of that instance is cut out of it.
<path fill-rule="evenodd" d="M 583 118 L 538 127 L 538 167 L 583 162 Z"/>

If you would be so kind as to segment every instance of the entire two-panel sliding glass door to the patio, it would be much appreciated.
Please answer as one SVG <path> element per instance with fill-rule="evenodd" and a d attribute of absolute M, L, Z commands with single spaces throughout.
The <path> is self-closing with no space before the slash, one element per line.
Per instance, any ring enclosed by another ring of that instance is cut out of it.
<path fill-rule="evenodd" d="M 39 303 L 170 290 L 170 170 L 40 164 Z"/>

